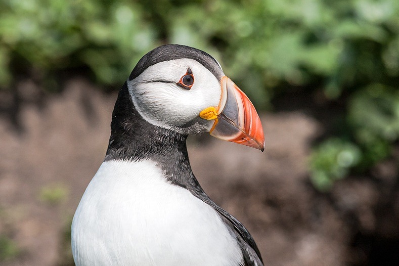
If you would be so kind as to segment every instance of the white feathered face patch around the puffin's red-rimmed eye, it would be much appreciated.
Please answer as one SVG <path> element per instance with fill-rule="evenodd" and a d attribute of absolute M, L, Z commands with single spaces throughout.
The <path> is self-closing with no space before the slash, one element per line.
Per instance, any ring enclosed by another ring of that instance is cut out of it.
<path fill-rule="evenodd" d="M 178 86 L 188 68 L 194 76 L 190 90 Z M 178 128 L 188 123 L 205 125 L 209 131 L 213 121 L 200 118 L 209 106 L 218 106 L 221 87 L 217 78 L 193 59 L 175 59 L 148 67 L 127 83 L 132 101 L 140 115 L 149 123 Z"/>

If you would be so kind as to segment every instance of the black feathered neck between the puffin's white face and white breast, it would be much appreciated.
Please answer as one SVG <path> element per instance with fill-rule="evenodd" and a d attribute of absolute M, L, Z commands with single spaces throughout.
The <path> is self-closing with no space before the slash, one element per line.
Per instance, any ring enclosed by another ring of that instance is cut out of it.
<path fill-rule="evenodd" d="M 182 187 L 198 186 L 191 170 L 186 140 L 187 135 L 144 120 L 132 103 L 125 82 L 112 113 L 105 161 L 151 159 L 170 182 Z"/>

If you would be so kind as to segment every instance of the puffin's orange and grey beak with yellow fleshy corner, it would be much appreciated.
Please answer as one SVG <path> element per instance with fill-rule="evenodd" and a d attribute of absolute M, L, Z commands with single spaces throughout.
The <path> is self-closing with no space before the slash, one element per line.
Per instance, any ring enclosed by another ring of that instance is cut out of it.
<path fill-rule="evenodd" d="M 255 107 L 227 76 L 221 78 L 220 85 L 219 106 L 208 107 L 200 113 L 204 119 L 215 120 L 210 135 L 263 151 L 263 128 Z"/>

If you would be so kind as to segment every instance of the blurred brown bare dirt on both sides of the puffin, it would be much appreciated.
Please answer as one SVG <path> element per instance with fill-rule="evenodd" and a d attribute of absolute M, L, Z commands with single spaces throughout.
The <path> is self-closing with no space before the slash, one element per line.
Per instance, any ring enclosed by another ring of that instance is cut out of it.
<path fill-rule="evenodd" d="M 79 78 L 58 94 L 17 88 L 0 92 L 0 235 L 18 253 L 0 265 L 73 265 L 70 221 L 104 158 L 116 93 Z M 399 152 L 323 194 L 307 156 L 326 125 L 301 109 L 261 119 L 263 153 L 208 135 L 188 149 L 205 192 L 247 227 L 265 264 L 399 265 Z M 49 190 L 61 196 L 49 201 Z"/>

